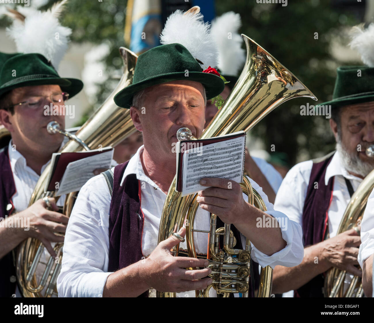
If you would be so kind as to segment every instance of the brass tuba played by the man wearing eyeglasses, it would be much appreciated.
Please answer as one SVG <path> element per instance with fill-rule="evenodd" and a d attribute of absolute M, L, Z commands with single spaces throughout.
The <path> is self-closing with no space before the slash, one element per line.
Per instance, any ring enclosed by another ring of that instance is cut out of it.
<path fill-rule="evenodd" d="M 100 147 L 99 145 L 102 145 L 102 147 L 115 146 L 136 131 L 129 109 L 117 107 L 113 97 L 120 89 L 132 83 L 138 56 L 125 47 L 120 47 L 119 51 L 123 59 L 124 73 L 116 89 L 79 129 L 75 135 L 76 140 L 73 138 L 68 141 L 60 152 L 82 151 L 87 148 L 96 149 Z M 58 130 L 58 124 L 55 124 L 54 129 L 54 131 L 70 136 L 63 130 Z M 83 143 L 79 143 L 79 141 Z M 44 191 L 49 172 L 50 165 L 46 167 L 40 176 L 31 196 L 29 206 L 45 196 L 55 196 L 54 191 Z M 76 195 L 77 192 L 70 193 L 65 199 L 64 214 L 67 216 L 70 216 Z M 47 264 L 44 264 L 45 270 L 42 279 L 38 282 L 35 273 L 37 266 L 40 265 L 40 258 L 45 247 L 39 240 L 34 238 L 28 238 L 19 245 L 16 256 L 16 274 L 19 286 L 21 286 L 21 292 L 25 297 L 50 297 L 52 294 L 57 294 L 56 280 L 61 269 L 62 246 L 63 243 L 55 244 L 53 249 L 58 259 L 54 259 L 52 256 L 49 257 Z"/>

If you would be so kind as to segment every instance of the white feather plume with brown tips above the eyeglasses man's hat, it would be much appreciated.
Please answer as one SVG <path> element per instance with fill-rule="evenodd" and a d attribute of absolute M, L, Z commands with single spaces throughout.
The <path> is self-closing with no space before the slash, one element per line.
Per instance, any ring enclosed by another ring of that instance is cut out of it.
<path fill-rule="evenodd" d="M 67 1 L 56 3 L 44 12 L 22 6 L 18 6 L 17 10 L 8 9 L 7 15 L 14 21 L 6 32 L 15 41 L 17 52 L 40 53 L 57 70 L 71 35 L 71 29 L 58 21 Z"/>

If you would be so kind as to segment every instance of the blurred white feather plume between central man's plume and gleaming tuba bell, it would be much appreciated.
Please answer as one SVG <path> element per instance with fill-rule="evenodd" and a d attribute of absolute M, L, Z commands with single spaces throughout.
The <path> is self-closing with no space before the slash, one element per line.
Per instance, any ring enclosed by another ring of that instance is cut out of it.
<path fill-rule="evenodd" d="M 218 68 L 223 75 L 237 76 L 245 62 L 243 39 L 237 32 L 241 25 L 239 13 L 233 11 L 212 21 L 211 35 L 218 46 Z"/>

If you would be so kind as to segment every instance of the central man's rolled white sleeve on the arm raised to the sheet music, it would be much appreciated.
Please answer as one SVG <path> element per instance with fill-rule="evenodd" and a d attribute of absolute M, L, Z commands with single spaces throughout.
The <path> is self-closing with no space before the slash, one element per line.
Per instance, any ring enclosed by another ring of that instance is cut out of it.
<path fill-rule="evenodd" d="M 269 202 L 266 194 L 263 192 L 260 186 L 252 179 L 250 179 L 252 187 L 260 194 L 264 200 L 267 211 L 265 213 L 273 216 L 278 222 L 279 228 L 281 229 L 282 238 L 286 242 L 286 246 L 269 256 L 258 250 L 252 243 L 252 259 L 261 267 L 270 266 L 274 268 L 277 265 L 285 267 L 294 267 L 301 263 L 304 257 L 303 247 L 303 233 L 301 226 L 290 220 L 284 213 L 274 210 L 273 204 Z M 246 195 L 243 194 L 243 198 L 247 199 Z M 242 244 L 245 245 L 246 238 L 242 236 Z"/>

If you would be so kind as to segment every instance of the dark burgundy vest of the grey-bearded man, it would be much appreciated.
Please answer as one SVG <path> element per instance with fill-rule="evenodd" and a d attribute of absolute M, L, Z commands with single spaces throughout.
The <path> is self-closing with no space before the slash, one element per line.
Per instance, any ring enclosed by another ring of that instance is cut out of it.
<path fill-rule="evenodd" d="M 327 156 L 313 160 L 302 215 L 304 247 L 324 241 L 327 234 L 328 209 L 332 200 L 334 178 L 330 178 L 325 185 L 325 175 L 334 153 L 333 151 Z M 323 287 L 324 274 L 319 274 L 295 290 L 294 296 L 324 297 Z"/>

